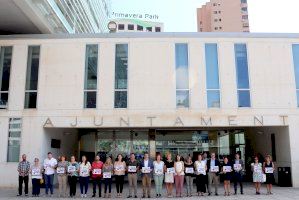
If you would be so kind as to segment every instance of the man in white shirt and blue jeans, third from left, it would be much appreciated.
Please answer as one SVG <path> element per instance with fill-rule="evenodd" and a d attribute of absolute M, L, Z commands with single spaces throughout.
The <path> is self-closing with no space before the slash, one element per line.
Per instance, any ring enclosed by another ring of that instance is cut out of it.
<path fill-rule="evenodd" d="M 51 196 L 53 195 L 53 181 L 56 166 L 57 160 L 53 158 L 52 153 L 49 152 L 48 157 L 44 160 L 46 195 L 49 194 L 49 189 Z"/>

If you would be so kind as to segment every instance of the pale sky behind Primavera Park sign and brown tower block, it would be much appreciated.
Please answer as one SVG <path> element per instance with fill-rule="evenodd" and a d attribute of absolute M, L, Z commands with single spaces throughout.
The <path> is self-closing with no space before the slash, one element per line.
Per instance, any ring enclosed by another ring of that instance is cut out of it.
<path fill-rule="evenodd" d="M 158 15 L 165 32 L 196 32 L 196 8 L 208 0 L 111 0 L 112 12 Z M 225 1 L 225 0 L 223 0 Z M 299 0 L 247 0 L 251 32 L 299 33 Z M 145 20 L 145 19 L 143 19 Z"/>

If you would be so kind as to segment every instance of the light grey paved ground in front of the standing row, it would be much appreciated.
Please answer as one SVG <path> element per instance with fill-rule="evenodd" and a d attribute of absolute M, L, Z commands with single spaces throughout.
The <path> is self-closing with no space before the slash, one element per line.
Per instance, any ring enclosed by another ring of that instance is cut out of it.
<path fill-rule="evenodd" d="M 141 190 L 141 185 L 139 184 L 138 185 L 139 188 L 138 188 L 138 199 L 141 199 L 141 196 L 142 196 L 142 190 Z M 165 188 L 164 188 L 165 189 Z M 195 191 L 195 187 L 194 187 L 194 191 Z M 233 188 L 232 188 L 232 191 L 233 191 Z M 62 198 L 58 198 L 57 196 L 57 188 L 55 188 L 55 191 L 54 191 L 54 196 L 52 198 L 49 198 L 49 197 L 44 197 L 44 189 L 42 188 L 41 190 L 41 197 L 40 199 L 62 199 Z M 113 185 L 113 188 L 112 188 L 112 193 L 114 194 L 115 192 L 115 185 Z M 128 192 L 128 185 L 125 185 L 125 188 L 124 188 L 124 194 L 123 194 L 123 198 L 126 198 L 127 197 L 127 192 Z M 155 199 L 154 198 L 154 195 L 155 195 L 155 190 L 154 190 L 154 187 L 152 188 L 152 199 Z M 159 199 L 169 199 L 169 198 L 166 198 L 165 197 L 165 193 L 166 191 L 164 190 L 164 197 L 162 198 L 159 198 Z M 173 191 L 173 193 L 175 194 L 175 190 Z M 231 195 L 231 196 L 224 196 L 224 190 L 223 190 L 223 187 L 221 185 L 221 187 L 219 188 L 219 196 L 203 196 L 203 197 L 198 197 L 198 196 L 195 196 L 195 193 L 194 193 L 194 196 L 192 197 L 183 197 L 183 199 L 208 199 L 208 200 L 253 200 L 253 199 L 262 199 L 262 200 L 289 200 L 289 199 L 297 199 L 299 200 L 299 188 L 284 188 L 284 187 L 277 187 L 277 186 L 274 186 L 273 187 L 273 195 L 266 195 L 266 187 L 263 186 L 262 187 L 262 190 L 261 190 L 261 195 L 255 195 L 255 190 L 253 188 L 253 186 L 251 184 L 246 184 L 245 187 L 244 187 L 244 195 Z M 29 195 L 29 197 L 17 197 L 16 196 L 17 194 L 17 188 L 0 188 L 0 199 L 37 199 L 36 197 L 31 197 Z M 90 185 L 89 187 L 89 191 L 88 191 L 88 198 L 87 199 L 93 199 L 91 198 L 91 195 L 92 195 L 92 185 Z M 113 196 L 114 197 L 114 196 Z M 80 190 L 79 190 L 79 187 L 77 188 L 77 196 L 76 196 L 77 199 L 80 199 Z M 86 198 L 85 198 L 86 199 Z M 96 198 L 98 199 L 98 197 Z M 114 197 L 114 199 L 116 199 Z M 118 198 L 119 199 L 119 198 Z M 179 198 L 173 198 L 173 199 L 179 199 Z M 182 199 L 182 198 L 180 198 Z"/>

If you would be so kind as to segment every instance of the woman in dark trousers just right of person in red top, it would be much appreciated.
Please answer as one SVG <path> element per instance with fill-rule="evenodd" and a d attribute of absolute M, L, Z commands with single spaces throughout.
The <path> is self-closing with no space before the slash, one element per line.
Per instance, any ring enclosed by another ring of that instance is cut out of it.
<path fill-rule="evenodd" d="M 112 174 L 113 174 L 112 160 L 110 157 L 107 157 L 106 162 L 103 165 L 103 179 L 105 184 L 104 198 L 111 198 Z M 108 188 L 109 188 L 109 193 L 107 195 Z"/>

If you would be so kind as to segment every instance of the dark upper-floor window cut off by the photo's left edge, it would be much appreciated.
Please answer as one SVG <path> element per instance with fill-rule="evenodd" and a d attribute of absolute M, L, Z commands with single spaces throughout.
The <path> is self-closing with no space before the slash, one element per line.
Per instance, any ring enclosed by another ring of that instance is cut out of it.
<path fill-rule="evenodd" d="M 0 47 L 0 109 L 7 108 L 12 47 Z"/>

